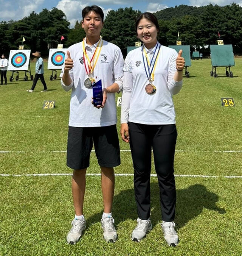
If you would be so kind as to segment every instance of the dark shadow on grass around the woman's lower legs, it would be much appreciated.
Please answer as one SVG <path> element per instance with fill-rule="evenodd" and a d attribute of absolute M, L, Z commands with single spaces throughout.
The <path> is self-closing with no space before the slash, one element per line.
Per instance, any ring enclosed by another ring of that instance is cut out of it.
<path fill-rule="evenodd" d="M 155 226 L 161 222 L 160 208 L 160 191 L 158 183 L 150 183 L 151 194 L 151 220 Z M 206 189 L 202 184 L 195 184 L 186 189 L 177 189 L 177 205 L 175 222 L 177 228 L 182 228 L 189 220 L 199 216 L 203 208 L 217 211 L 219 214 L 224 214 L 225 209 L 216 206 L 219 197 Z M 137 209 L 134 198 L 134 190 L 127 189 L 119 192 L 113 199 L 112 215 L 115 218 L 115 225 L 127 219 L 137 219 Z M 90 223 L 100 222 L 102 212 L 92 215 L 87 219 L 87 225 Z"/>

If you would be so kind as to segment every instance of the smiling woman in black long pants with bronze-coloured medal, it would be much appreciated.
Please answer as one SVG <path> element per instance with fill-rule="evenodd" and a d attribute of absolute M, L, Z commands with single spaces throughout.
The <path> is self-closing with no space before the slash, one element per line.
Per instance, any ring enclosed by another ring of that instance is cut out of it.
<path fill-rule="evenodd" d="M 152 229 L 150 221 L 151 149 L 160 187 L 162 229 L 168 245 L 178 244 L 175 231 L 174 153 L 177 139 L 172 95 L 182 88 L 185 66 L 182 50 L 157 41 L 157 18 L 144 12 L 136 21 L 143 45 L 128 53 L 124 63 L 121 136 L 130 143 L 133 166 L 137 226 L 132 240 L 140 242 Z"/>

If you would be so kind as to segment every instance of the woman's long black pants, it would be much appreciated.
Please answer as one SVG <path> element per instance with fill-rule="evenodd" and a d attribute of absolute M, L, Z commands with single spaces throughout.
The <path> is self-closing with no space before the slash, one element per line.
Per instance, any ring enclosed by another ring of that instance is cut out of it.
<path fill-rule="evenodd" d="M 175 124 L 144 125 L 129 122 L 130 149 L 134 167 L 135 201 L 138 217 L 150 217 L 150 169 L 153 148 L 155 170 L 160 187 L 162 220 L 175 218 L 174 154 L 177 140 Z"/>

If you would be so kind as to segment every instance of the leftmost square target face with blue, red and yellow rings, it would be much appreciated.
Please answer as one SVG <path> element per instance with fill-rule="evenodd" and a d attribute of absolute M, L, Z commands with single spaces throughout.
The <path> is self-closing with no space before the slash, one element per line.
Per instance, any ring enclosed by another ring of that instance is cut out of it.
<path fill-rule="evenodd" d="M 28 70 L 31 50 L 11 50 L 8 70 Z"/>

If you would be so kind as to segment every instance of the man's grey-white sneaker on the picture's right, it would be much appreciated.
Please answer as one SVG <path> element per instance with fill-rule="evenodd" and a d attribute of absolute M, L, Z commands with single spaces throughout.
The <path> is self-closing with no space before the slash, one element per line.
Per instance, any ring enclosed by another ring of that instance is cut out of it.
<path fill-rule="evenodd" d="M 117 231 L 114 227 L 114 219 L 113 217 L 107 217 L 105 219 L 101 219 L 102 229 L 103 229 L 103 237 L 106 242 L 115 243 L 118 236 Z"/>

